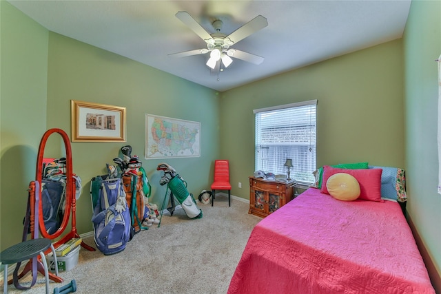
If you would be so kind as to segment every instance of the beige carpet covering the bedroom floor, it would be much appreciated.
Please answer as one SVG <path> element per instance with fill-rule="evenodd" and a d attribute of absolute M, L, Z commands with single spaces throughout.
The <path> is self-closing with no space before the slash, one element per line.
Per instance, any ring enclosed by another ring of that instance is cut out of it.
<path fill-rule="evenodd" d="M 73 279 L 76 293 L 227 293 L 249 234 L 261 218 L 248 214 L 247 202 L 232 199 L 228 207 L 224 196 L 216 196 L 214 207 L 198 207 L 203 218 L 197 220 L 182 209 L 173 216 L 164 213 L 161 227 L 141 231 L 121 253 L 106 256 L 81 248 L 79 263 L 59 274 L 63 283 L 50 281 L 50 293 Z M 95 246 L 93 237 L 84 241 Z M 29 283 L 30 275 L 22 281 Z M 39 275 L 29 291 L 10 285 L 8 293 L 45 293 L 44 281 Z"/>

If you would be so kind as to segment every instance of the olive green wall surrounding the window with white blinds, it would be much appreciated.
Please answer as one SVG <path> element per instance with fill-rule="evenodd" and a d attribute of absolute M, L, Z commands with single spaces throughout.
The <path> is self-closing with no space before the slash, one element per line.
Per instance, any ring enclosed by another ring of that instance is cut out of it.
<path fill-rule="evenodd" d="M 402 70 L 398 39 L 223 93 L 220 154 L 234 167 L 232 193 L 249 198 L 253 109 L 298 101 L 318 100 L 318 167 L 360 161 L 404 167 Z"/>

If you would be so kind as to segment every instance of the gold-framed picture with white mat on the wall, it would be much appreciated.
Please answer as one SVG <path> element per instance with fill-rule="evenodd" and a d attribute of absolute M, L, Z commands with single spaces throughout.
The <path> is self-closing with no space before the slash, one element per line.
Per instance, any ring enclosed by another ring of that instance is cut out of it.
<path fill-rule="evenodd" d="M 125 107 L 70 101 L 72 142 L 125 142 Z"/>

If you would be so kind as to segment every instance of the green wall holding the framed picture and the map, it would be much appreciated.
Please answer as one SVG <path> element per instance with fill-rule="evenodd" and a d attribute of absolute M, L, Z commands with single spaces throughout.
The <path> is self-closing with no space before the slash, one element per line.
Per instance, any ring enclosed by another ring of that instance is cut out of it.
<path fill-rule="evenodd" d="M 167 162 L 187 181 L 190 193 L 209 189 L 212 162 L 219 154 L 218 96 L 214 90 L 126 59 L 117 54 L 49 33 L 48 128 L 59 127 L 70 134 L 70 100 L 126 107 L 127 144 L 143 162 L 152 185 L 154 202 L 161 207 L 165 187 L 156 171 Z M 195 107 L 198 105 L 198 107 Z M 145 160 L 145 114 L 156 114 L 201 123 L 201 157 Z M 92 231 L 90 179 L 105 174 L 105 163 L 122 157 L 126 143 L 71 143 L 74 173 L 83 180 L 83 193 L 77 201 L 77 227 L 80 233 Z"/>

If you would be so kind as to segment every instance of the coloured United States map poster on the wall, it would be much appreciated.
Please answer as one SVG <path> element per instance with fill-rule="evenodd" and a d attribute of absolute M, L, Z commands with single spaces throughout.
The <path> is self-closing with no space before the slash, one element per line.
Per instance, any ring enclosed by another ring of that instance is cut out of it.
<path fill-rule="evenodd" d="M 145 114 L 145 159 L 201 156 L 201 123 Z"/>

